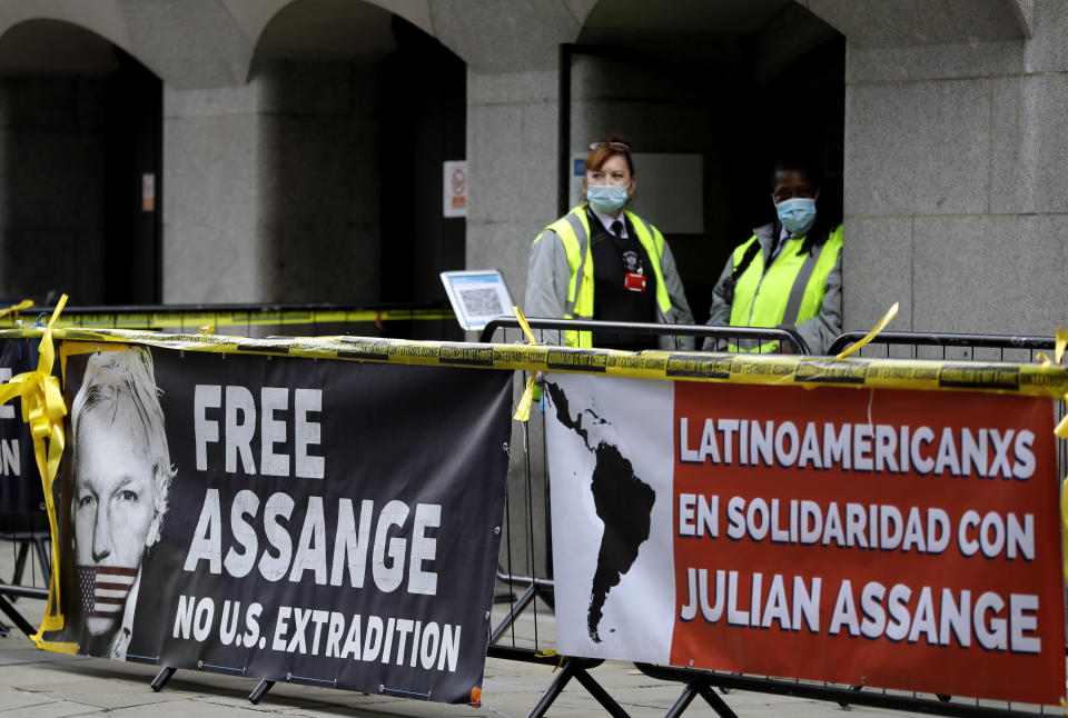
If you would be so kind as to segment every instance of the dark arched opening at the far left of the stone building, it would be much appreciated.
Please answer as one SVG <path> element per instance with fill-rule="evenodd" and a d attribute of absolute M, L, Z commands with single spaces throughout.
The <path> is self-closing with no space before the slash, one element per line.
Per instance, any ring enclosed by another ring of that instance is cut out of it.
<path fill-rule="evenodd" d="M 0 36 L 0 296 L 159 299 L 161 83 L 76 24 Z"/>

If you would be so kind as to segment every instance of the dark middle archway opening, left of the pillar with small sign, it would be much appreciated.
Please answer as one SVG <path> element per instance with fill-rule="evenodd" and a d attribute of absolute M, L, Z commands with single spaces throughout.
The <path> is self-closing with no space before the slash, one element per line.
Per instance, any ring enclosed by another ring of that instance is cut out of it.
<path fill-rule="evenodd" d="M 441 182 L 442 162 L 464 158 L 466 68 L 389 6 L 295 0 L 257 41 L 275 299 L 444 300 L 437 275 L 463 267 Z"/>

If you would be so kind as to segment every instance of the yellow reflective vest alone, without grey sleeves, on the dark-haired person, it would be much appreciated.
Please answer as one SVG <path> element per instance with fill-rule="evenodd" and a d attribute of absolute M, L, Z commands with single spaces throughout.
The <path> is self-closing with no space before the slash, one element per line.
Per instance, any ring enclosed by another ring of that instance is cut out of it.
<path fill-rule="evenodd" d="M 753 235 L 748 242 L 734 250 L 734 267 L 741 263 L 745 251 L 755 241 L 756 236 Z M 734 286 L 734 300 L 731 303 L 732 327 L 795 327 L 820 313 L 827 278 L 842 251 L 842 226 L 839 225 L 838 229 L 831 232 L 820 249 L 819 257 L 811 267 L 812 273 L 805 282 L 797 316 L 787 317 L 784 315 L 790 295 L 809 257 L 809 252 L 801 253 L 803 243 L 803 237 L 788 240 L 767 271 L 763 252 L 756 252 Z M 774 347 L 763 346 L 758 349 L 768 351 Z"/>

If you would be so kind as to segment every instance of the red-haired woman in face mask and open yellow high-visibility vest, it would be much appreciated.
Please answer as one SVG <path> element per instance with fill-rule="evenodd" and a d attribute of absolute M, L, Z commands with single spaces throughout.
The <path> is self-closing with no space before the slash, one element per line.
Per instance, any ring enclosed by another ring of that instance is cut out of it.
<path fill-rule="evenodd" d="M 584 201 L 531 246 L 524 311 L 530 317 L 691 325 L 671 248 L 659 229 L 626 209 L 637 178 L 630 144 L 610 134 L 590 146 Z M 692 349 L 691 337 L 626 331 L 543 330 L 568 347 Z M 561 337 L 563 333 L 563 337 Z"/>

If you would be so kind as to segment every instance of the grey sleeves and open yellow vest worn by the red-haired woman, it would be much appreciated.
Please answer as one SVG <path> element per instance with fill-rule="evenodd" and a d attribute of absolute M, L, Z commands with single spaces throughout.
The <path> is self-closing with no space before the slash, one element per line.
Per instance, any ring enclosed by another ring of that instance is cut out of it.
<path fill-rule="evenodd" d="M 664 236 L 634 212 L 627 211 L 626 217 L 649 255 L 656 278 L 656 321 L 693 323 L 693 315 L 675 270 L 675 260 Z M 590 220 L 583 205 L 546 227 L 534 239 L 523 307 L 528 317 L 593 319 L 595 298 L 590 236 Z M 542 333 L 548 343 L 562 343 L 558 332 Z M 590 347 L 592 333 L 566 331 L 563 343 L 568 347 Z M 693 347 L 690 337 L 679 337 L 678 341 L 674 337 L 660 337 L 657 343 L 664 349 Z"/>

